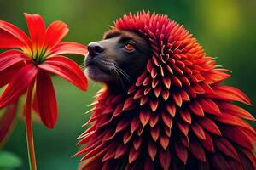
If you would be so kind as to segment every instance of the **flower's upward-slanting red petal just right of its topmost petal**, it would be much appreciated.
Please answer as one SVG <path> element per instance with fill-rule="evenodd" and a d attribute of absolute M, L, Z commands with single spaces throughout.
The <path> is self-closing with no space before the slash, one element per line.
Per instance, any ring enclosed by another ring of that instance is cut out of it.
<path fill-rule="evenodd" d="M 61 42 L 62 38 L 67 35 L 67 32 L 67 24 L 60 20 L 52 22 L 46 30 L 44 46 L 54 47 L 57 43 Z"/>

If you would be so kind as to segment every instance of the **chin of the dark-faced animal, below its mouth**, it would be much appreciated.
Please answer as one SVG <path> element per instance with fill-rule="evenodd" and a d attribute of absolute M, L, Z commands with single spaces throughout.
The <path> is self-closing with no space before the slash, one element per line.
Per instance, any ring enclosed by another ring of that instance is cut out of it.
<path fill-rule="evenodd" d="M 90 77 L 90 79 L 95 82 L 108 83 L 113 81 L 112 75 L 106 71 L 102 71 L 102 69 L 96 65 L 88 65 L 84 72 L 87 77 Z"/>

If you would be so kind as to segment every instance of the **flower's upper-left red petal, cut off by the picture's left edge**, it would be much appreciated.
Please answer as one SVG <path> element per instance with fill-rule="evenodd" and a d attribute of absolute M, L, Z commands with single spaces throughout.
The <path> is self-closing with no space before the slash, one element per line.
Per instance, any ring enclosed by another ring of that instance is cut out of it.
<path fill-rule="evenodd" d="M 31 41 L 19 27 L 0 20 L 0 48 L 29 48 Z"/>

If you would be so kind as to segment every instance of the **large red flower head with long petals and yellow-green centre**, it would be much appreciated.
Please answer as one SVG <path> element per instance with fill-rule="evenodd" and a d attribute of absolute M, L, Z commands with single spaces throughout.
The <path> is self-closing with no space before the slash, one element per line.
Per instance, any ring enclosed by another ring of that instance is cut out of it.
<path fill-rule="evenodd" d="M 29 86 L 35 84 L 34 104 L 44 125 L 53 128 L 58 111 L 50 74 L 86 90 L 87 79 L 83 71 L 62 54 L 84 56 L 87 49 L 76 42 L 61 42 L 68 32 L 62 21 L 56 20 L 46 28 L 38 14 L 25 14 L 25 18 L 30 37 L 19 27 L 0 20 L 0 48 L 8 49 L 0 54 L 0 88 L 7 85 L 0 97 L 0 108 L 15 103 Z"/>

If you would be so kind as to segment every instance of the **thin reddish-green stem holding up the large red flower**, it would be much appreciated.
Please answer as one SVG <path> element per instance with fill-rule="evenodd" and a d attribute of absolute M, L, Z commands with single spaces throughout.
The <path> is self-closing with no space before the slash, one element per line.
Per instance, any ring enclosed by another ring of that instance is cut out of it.
<path fill-rule="evenodd" d="M 34 149 L 33 129 L 32 129 L 32 90 L 34 83 L 32 82 L 26 94 L 26 144 L 28 152 L 28 160 L 30 170 L 37 170 L 36 155 Z"/>

